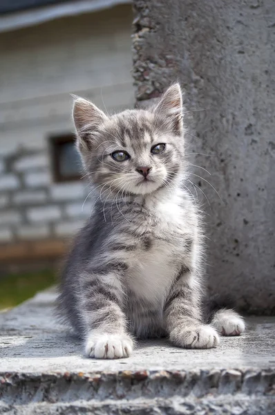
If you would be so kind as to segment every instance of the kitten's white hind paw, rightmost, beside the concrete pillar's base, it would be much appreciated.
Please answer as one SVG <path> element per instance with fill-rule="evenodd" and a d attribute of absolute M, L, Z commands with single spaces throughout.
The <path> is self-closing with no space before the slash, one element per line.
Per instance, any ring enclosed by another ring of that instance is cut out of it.
<path fill-rule="evenodd" d="M 222 335 L 240 335 L 245 331 L 243 318 L 233 310 L 220 310 L 211 324 Z"/>

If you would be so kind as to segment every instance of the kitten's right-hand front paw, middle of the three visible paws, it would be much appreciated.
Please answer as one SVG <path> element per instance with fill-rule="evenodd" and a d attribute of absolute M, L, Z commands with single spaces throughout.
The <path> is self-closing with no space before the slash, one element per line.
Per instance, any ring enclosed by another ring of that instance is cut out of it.
<path fill-rule="evenodd" d="M 173 337 L 173 333 L 171 333 Z M 173 340 L 172 340 L 173 341 Z M 211 349 L 220 344 L 218 333 L 211 326 L 191 326 L 177 333 L 173 341 L 186 349 Z"/>

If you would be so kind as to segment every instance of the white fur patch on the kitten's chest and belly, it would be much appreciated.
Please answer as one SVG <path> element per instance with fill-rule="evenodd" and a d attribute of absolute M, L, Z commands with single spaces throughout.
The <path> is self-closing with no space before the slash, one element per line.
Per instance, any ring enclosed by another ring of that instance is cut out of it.
<path fill-rule="evenodd" d="M 135 251 L 132 256 L 129 288 L 141 299 L 162 303 L 179 271 L 189 229 L 182 226 L 184 211 L 178 195 L 169 201 L 152 200 L 148 209 L 150 217 L 141 227 L 150 230 L 150 248 Z"/>

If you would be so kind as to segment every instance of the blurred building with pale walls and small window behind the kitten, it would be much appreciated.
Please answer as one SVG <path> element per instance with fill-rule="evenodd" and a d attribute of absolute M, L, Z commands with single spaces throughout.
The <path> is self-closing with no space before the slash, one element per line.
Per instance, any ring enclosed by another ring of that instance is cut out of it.
<path fill-rule="evenodd" d="M 133 107 L 127 3 L 0 1 L 0 268 L 59 257 L 88 216 L 69 94 Z"/>

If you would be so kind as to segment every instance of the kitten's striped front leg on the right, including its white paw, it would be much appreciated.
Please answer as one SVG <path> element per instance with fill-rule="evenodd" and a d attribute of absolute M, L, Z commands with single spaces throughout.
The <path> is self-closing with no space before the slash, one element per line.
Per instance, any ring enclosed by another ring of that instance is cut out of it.
<path fill-rule="evenodd" d="M 173 344 L 191 349 L 209 349 L 219 344 L 216 330 L 202 324 L 198 282 L 190 270 L 182 270 L 164 306 L 164 321 Z"/>

